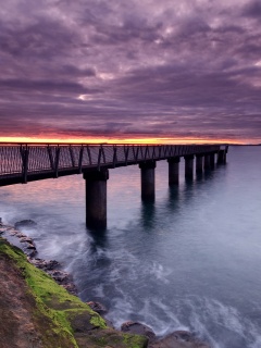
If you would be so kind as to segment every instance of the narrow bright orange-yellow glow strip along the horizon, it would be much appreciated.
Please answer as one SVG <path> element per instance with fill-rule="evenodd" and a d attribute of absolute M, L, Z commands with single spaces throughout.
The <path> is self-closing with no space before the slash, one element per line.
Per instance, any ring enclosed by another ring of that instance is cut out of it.
<path fill-rule="evenodd" d="M 189 144 L 231 144 L 231 145 L 247 145 L 257 144 L 252 139 L 211 139 L 211 138 L 171 138 L 171 137 L 151 137 L 151 138 L 105 138 L 105 137 L 86 137 L 86 138 L 40 138 L 40 137 L 0 137 L 0 142 L 15 144 L 162 144 L 162 145 L 189 145 Z"/>

